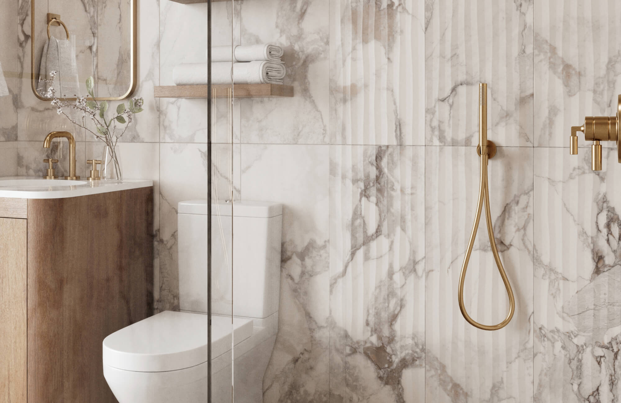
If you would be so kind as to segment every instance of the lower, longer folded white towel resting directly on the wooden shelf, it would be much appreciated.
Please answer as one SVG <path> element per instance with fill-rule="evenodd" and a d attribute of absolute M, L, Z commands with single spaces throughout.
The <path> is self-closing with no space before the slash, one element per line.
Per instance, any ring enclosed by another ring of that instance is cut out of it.
<path fill-rule="evenodd" d="M 250 61 L 248 63 L 233 63 L 233 77 L 231 78 L 231 63 L 211 64 L 212 84 L 283 84 L 286 73 L 284 64 L 271 61 Z M 183 63 L 173 69 L 173 82 L 178 86 L 207 85 L 207 63 Z"/>

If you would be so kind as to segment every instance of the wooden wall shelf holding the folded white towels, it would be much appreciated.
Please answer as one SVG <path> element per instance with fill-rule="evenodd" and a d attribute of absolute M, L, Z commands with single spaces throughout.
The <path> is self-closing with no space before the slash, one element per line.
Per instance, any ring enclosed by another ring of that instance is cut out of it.
<path fill-rule="evenodd" d="M 230 85 L 213 85 L 216 98 L 229 96 Z M 209 86 L 156 86 L 156 98 L 208 98 Z M 235 84 L 235 98 L 292 97 L 293 87 L 279 84 Z"/>

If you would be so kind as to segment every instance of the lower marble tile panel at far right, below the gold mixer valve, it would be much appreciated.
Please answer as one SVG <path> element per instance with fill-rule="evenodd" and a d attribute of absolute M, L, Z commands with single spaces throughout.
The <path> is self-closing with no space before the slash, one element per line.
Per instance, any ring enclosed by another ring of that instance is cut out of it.
<path fill-rule="evenodd" d="M 621 180 L 535 149 L 535 402 L 621 399 Z"/>

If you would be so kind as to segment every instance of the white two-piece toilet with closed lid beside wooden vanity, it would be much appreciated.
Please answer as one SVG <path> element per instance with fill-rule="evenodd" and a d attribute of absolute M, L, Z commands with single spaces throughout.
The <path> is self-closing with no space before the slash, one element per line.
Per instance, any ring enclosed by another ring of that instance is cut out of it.
<path fill-rule="evenodd" d="M 234 358 L 235 402 L 261 402 L 278 329 L 282 207 L 214 203 L 212 215 L 212 401 L 230 401 Z M 119 403 L 207 401 L 208 219 L 206 200 L 179 203 L 181 312 L 160 312 L 104 339 L 104 377 Z"/>

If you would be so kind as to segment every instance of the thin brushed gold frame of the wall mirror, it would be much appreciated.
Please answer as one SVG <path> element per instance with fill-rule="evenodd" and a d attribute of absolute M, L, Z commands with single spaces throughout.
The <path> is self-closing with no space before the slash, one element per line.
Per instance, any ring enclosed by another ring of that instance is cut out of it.
<path fill-rule="evenodd" d="M 30 87 L 32 89 L 32 93 L 35 94 L 35 97 L 40 100 L 48 101 L 49 98 L 43 97 L 39 92 L 37 92 L 37 75 L 35 73 L 35 1 L 30 1 Z M 120 95 L 119 97 L 97 97 L 97 100 L 122 100 L 134 93 L 136 90 L 136 86 L 138 84 L 138 0 L 130 0 L 130 43 L 131 49 L 129 53 L 129 63 L 132 66 L 132 74 L 130 74 L 129 81 L 129 89 L 125 92 L 125 94 Z M 48 22 L 49 15 L 48 13 Z M 58 14 L 51 14 L 58 15 Z M 60 22 L 60 15 L 59 22 Z M 52 24 L 54 25 L 54 24 Z M 64 25 L 64 24 L 63 24 Z M 66 30 L 66 27 L 65 27 Z M 67 33 L 67 37 L 69 34 Z M 65 98 L 66 100 L 76 100 L 76 98 Z M 92 99 L 92 98 L 88 98 Z"/>

